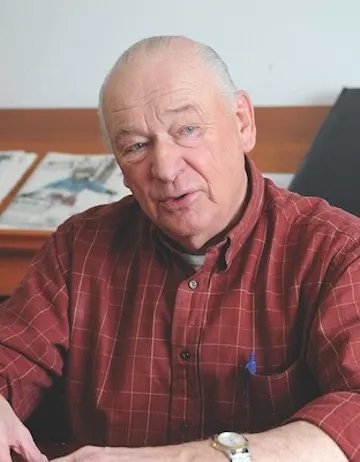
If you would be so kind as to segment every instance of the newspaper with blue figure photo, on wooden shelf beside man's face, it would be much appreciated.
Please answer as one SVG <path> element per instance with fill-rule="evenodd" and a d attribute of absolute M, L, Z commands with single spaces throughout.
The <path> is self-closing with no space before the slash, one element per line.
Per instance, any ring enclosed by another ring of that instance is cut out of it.
<path fill-rule="evenodd" d="M 129 194 L 112 154 L 49 152 L 0 215 L 0 229 L 51 231 L 72 215 Z"/>

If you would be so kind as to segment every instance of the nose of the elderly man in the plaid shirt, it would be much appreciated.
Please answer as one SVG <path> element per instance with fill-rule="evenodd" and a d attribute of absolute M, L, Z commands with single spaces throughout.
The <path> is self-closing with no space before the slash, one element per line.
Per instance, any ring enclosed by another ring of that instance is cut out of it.
<path fill-rule="evenodd" d="M 171 140 L 156 139 L 153 144 L 151 174 L 163 182 L 173 182 L 182 169 L 179 146 Z"/>

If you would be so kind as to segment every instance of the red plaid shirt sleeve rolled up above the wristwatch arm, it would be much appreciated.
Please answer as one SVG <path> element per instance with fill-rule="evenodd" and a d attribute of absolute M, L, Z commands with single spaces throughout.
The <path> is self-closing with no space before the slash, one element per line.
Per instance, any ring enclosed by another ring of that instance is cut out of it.
<path fill-rule="evenodd" d="M 349 460 L 360 460 L 360 258 L 359 244 L 334 264 L 314 318 L 307 360 L 322 396 L 287 422 L 320 427 Z M 345 268 L 345 269 L 344 269 Z M 320 291 L 320 292 L 321 292 Z"/>

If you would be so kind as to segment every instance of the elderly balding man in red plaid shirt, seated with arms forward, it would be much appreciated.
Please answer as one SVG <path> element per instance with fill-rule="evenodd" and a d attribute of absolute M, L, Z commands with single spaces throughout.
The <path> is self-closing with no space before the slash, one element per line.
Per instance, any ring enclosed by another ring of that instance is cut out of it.
<path fill-rule="evenodd" d="M 0 312 L 0 459 L 65 381 L 82 461 L 360 460 L 360 223 L 264 180 L 210 48 L 154 37 L 100 98 L 133 195 L 51 236 Z M 16 416 L 17 415 L 17 416 Z"/>

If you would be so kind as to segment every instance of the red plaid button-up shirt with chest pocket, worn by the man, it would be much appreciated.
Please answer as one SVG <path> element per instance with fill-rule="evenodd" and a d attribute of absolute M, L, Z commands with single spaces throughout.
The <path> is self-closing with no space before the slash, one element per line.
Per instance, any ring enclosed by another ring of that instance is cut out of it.
<path fill-rule="evenodd" d="M 22 418 L 63 376 L 76 442 L 305 419 L 360 460 L 359 220 L 247 162 L 245 212 L 197 272 L 132 197 L 52 235 L 0 310 L 0 392 Z"/>

